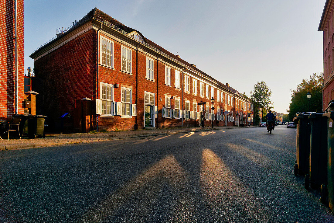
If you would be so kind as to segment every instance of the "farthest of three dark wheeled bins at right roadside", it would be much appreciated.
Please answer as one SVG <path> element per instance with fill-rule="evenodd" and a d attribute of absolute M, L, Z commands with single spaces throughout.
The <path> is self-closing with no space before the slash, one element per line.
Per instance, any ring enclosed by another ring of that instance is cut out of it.
<path fill-rule="evenodd" d="M 309 117 L 310 113 L 296 114 L 293 119 L 297 124 L 296 137 L 296 163 L 294 165 L 294 173 L 304 175 L 309 173 L 310 168 L 310 128 Z"/>

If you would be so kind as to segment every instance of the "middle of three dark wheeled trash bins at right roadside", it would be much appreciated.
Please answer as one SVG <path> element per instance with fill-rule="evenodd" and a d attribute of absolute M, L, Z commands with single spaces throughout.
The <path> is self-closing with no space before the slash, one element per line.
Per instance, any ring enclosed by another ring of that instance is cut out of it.
<path fill-rule="evenodd" d="M 314 189 L 319 189 L 327 180 L 327 117 L 324 113 L 309 115 L 310 127 L 310 165 L 305 174 L 305 189 L 309 183 Z"/>

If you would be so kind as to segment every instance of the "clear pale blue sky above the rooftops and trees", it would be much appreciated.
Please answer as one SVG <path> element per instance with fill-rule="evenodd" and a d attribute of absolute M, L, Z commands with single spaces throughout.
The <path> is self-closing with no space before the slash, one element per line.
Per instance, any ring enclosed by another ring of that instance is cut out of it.
<path fill-rule="evenodd" d="M 29 55 L 97 7 L 239 92 L 265 81 L 274 110 L 287 113 L 291 89 L 322 72 L 325 0 L 24 2 L 24 66 Z M 312 98 L 311 98 L 312 99 Z"/>

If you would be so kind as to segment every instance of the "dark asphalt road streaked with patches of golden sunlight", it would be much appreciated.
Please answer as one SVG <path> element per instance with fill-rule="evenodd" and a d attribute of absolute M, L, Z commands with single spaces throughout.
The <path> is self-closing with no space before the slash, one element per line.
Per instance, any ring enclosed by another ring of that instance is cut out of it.
<path fill-rule="evenodd" d="M 277 126 L 0 151 L 0 222 L 334 222 L 295 147 Z"/>

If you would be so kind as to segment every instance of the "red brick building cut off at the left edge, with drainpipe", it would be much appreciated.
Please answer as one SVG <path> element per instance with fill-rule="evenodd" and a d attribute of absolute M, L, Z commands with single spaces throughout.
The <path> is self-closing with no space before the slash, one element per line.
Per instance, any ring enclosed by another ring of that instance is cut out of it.
<path fill-rule="evenodd" d="M 17 55 L 15 54 L 14 0 L 0 0 L 0 121 L 23 113 L 23 0 L 17 0 Z M 15 111 L 15 58 L 18 91 Z"/>

